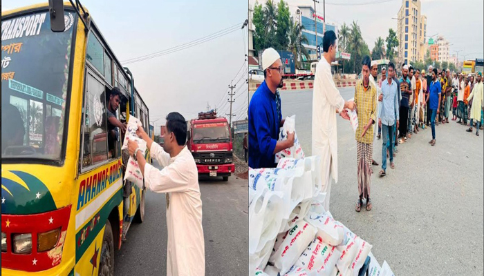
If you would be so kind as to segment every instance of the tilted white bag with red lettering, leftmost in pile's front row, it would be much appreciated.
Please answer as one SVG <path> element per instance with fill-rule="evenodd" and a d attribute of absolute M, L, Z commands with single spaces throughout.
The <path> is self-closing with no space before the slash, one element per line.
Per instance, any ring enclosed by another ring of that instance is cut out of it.
<path fill-rule="evenodd" d="M 314 226 L 306 221 L 299 221 L 294 228 L 289 230 L 279 248 L 270 256 L 269 262 L 281 270 L 281 274 L 287 273 L 314 239 L 316 232 Z"/>

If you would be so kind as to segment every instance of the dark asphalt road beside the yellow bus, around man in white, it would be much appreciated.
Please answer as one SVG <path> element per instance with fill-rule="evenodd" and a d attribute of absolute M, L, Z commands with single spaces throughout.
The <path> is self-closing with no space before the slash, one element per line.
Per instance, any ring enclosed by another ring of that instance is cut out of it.
<path fill-rule="evenodd" d="M 205 178 L 199 184 L 205 275 L 248 275 L 247 180 L 232 175 L 227 182 Z M 115 252 L 115 275 L 166 275 L 165 194 L 147 192 L 145 199 L 145 221 L 131 224 L 127 242 Z"/>

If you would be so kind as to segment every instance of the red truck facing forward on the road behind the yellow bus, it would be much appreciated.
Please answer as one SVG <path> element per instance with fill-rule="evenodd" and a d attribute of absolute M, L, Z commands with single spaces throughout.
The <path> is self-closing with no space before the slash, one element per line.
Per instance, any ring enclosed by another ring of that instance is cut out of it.
<path fill-rule="evenodd" d="M 195 159 L 198 175 L 223 177 L 227 181 L 235 171 L 230 126 L 216 112 L 198 113 L 189 123 L 187 146 Z"/>

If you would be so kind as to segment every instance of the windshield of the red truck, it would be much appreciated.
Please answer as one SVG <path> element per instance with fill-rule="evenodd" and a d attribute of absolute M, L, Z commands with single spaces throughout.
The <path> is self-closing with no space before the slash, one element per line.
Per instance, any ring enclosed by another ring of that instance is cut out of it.
<path fill-rule="evenodd" d="M 230 142 L 227 123 L 208 123 L 194 125 L 194 143 L 228 143 Z"/>

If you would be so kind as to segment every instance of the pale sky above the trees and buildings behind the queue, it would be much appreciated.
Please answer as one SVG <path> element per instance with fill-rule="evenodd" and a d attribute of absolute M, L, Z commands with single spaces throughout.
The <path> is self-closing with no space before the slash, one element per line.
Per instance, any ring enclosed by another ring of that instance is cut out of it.
<path fill-rule="evenodd" d="M 249 0 L 253 6 L 256 0 Z M 279 2 L 279 0 L 274 0 Z M 266 0 L 259 0 L 265 3 Z M 318 14 L 323 14 L 323 0 L 316 4 Z M 350 25 L 353 20 L 362 30 L 362 37 L 370 50 L 378 37 L 385 39 L 389 28 L 397 30 L 398 10 L 402 0 L 331 0 L 325 1 L 326 21 Z M 376 2 L 376 3 L 372 3 Z M 312 0 L 286 0 L 289 5 L 299 3 L 314 5 Z M 371 3 L 371 4 L 368 4 Z M 427 35 L 442 35 L 449 43 L 450 55 L 462 61 L 484 57 L 483 0 L 421 0 L 420 12 L 427 15 Z M 436 38 L 436 37 L 434 37 Z"/>

